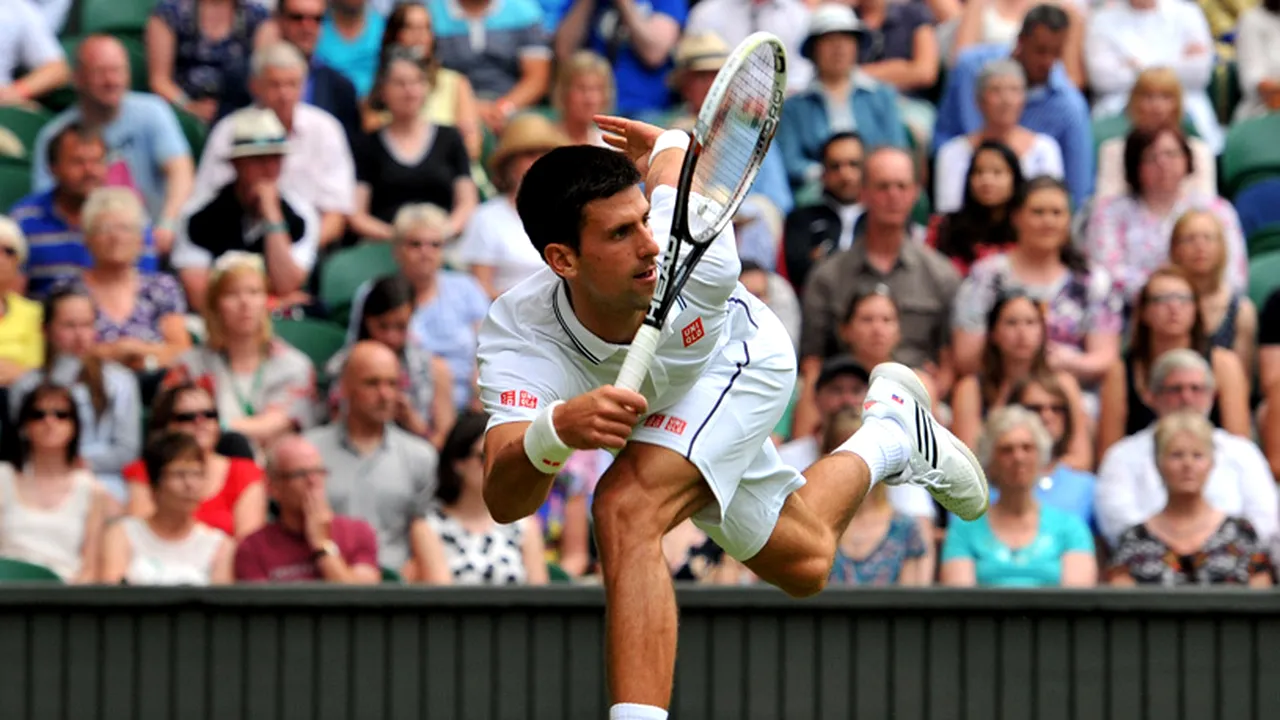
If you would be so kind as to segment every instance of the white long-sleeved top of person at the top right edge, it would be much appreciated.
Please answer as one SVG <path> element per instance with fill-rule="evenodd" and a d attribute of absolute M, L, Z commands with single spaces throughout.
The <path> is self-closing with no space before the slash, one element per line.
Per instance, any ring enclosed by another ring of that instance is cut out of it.
<path fill-rule="evenodd" d="M 1084 36 L 1084 68 L 1093 88 L 1093 117 L 1124 111 L 1138 73 L 1169 67 L 1183 82 L 1183 104 L 1196 132 L 1213 152 L 1222 127 L 1208 97 L 1213 36 L 1204 13 L 1184 0 L 1128 0 L 1100 8 Z"/>

